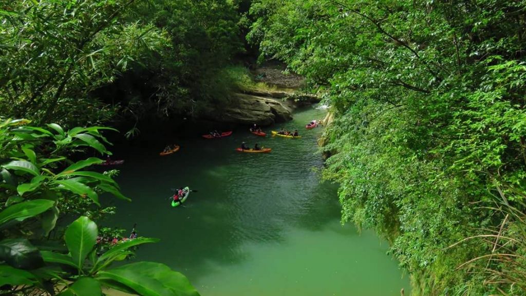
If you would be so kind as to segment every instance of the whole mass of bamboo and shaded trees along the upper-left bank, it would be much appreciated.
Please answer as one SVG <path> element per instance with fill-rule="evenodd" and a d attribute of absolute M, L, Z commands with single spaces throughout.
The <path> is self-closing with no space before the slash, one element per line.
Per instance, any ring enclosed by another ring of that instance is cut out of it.
<path fill-rule="evenodd" d="M 196 115 L 224 103 L 226 68 L 244 51 L 243 4 L 3 2 L 0 114 L 84 125 Z"/>

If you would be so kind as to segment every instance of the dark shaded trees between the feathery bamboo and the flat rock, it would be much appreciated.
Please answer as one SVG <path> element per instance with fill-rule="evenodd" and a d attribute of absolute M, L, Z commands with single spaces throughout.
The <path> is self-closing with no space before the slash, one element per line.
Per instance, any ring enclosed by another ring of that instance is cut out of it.
<path fill-rule="evenodd" d="M 123 113 L 136 120 L 150 114 L 198 116 L 228 103 L 232 81 L 224 68 L 243 51 L 236 2 L 138 3 L 128 16 L 130 21 L 144 19 L 164 28 L 171 46 L 150 60 L 147 68 L 136 68 L 105 90 L 123 96 Z"/>

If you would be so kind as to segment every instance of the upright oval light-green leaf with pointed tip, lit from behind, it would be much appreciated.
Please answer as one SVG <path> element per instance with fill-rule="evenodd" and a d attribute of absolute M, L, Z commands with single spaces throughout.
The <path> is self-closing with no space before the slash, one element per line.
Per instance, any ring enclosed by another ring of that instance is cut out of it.
<path fill-rule="evenodd" d="M 66 245 L 79 269 L 97 242 L 97 233 L 97 224 L 86 216 L 78 218 L 68 226 L 65 233 Z"/>

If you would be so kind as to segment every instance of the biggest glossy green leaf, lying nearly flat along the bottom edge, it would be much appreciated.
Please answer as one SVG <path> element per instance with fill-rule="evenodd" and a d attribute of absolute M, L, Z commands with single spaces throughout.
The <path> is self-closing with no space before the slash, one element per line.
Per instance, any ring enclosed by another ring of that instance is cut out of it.
<path fill-rule="evenodd" d="M 181 273 L 164 264 L 137 262 L 100 271 L 97 278 L 113 280 L 144 296 L 197 296 L 199 293 Z"/>

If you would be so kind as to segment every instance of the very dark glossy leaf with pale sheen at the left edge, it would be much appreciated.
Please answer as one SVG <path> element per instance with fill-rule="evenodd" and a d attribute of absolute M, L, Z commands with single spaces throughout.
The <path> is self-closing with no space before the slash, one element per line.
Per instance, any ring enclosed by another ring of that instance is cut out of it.
<path fill-rule="evenodd" d="M 26 239 L 0 241 L 0 261 L 20 269 L 38 268 L 44 263 L 38 249 Z"/>

